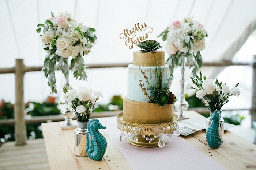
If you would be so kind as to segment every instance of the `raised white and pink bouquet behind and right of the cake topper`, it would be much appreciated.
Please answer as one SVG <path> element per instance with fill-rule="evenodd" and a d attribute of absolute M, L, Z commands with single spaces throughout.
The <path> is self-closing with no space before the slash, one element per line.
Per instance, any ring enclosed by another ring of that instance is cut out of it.
<path fill-rule="evenodd" d="M 196 74 L 202 66 L 200 51 L 205 48 L 204 38 L 207 36 L 203 25 L 189 17 L 173 22 L 158 36 L 162 37 L 163 41 L 167 40 L 166 50 L 169 58 L 166 63 L 170 65 L 171 76 L 173 69 L 181 66 L 183 56 L 187 58 L 189 68 L 193 68 L 192 74 Z"/>

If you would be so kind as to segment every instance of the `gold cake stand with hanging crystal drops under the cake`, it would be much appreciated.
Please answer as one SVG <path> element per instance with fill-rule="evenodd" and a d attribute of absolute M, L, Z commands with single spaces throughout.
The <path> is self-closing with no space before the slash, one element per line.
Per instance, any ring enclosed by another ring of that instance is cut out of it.
<path fill-rule="evenodd" d="M 123 120 L 123 112 L 117 115 L 117 129 L 120 130 L 120 141 L 123 136 L 127 141 L 140 147 L 164 147 L 167 139 L 178 132 L 178 115 L 173 114 L 173 121 L 159 124 L 131 123 Z"/>

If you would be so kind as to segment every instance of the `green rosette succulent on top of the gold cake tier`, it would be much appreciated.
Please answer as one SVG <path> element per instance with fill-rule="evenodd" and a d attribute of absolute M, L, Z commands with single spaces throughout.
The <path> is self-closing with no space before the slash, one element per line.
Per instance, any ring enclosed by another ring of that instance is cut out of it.
<path fill-rule="evenodd" d="M 140 48 L 140 52 L 157 52 L 159 48 L 162 48 L 156 40 L 146 40 L 140 42 L 137 46 Z"/>

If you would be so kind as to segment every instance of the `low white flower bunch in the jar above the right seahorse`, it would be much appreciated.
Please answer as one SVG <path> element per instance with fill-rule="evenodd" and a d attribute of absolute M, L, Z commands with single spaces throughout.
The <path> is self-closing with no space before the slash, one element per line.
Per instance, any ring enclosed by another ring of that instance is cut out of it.
<path fill-rule="evenodd" d="M 205 106 L 209 110 L 214 112 L 215 110 L 221 110 L 221 107 L 229 102 L 230 96 L 239 96 L 240 90 L 235 87 L 230 88 L 226 83 L 218 82 L 216 78 L 215 83 L 213 79 L 206 79 L 206 76 L 202 77 L 200 71 L 200 76 L 195 75 L 191 77 L 193 83 L 187 84 L 187 90 L 195 89 L 196 97 L 199 99 L 204 99 Z"/>

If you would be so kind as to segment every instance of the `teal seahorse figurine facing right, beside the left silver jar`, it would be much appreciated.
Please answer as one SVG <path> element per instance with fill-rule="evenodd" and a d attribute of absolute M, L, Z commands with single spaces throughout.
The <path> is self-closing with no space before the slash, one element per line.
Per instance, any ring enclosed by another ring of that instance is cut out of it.
<path fill-rule="evenodd" d="M 98 130 L 106 129 L 106 127 L 102 126 L 98 119 L 92 119 L 89 121 L 87 128 L 92 138 L 90 139 L 89 134 L 86 134 L 86 153 L 90 159 L 99 161 L 103 158 L 103 155 L 106 152 L 107 141 Z"/>

